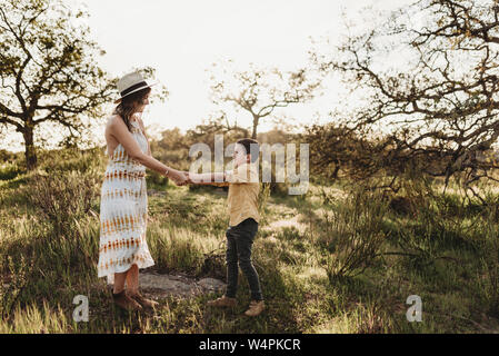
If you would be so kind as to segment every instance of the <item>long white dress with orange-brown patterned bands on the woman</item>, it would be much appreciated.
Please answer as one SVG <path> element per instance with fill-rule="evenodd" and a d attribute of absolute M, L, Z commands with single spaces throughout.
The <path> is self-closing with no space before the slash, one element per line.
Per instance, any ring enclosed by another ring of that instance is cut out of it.
<path fill-rule="evenodd" d="M 131 134 L 142 152 L 148 142 L 137 121 Z M 154 265 L 146 240 L 148 197 L 146 167 L 132 160 L 121 144 L 109 158 L 101 188 L 98 276 L 114 283 L 114 274 Z"/>

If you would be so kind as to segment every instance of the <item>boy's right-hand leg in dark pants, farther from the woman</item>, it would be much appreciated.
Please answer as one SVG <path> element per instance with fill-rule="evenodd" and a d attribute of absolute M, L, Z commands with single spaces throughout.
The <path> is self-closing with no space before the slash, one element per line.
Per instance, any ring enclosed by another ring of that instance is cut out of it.
<path fill-rule="evenodd" d="M 252 300 L 263 300 L 261 293 L 260 278 L 253 264 L 251 263 L 251 247 L 255 236 L 258 231 L 258 222 L 253 219 L 244 220 L 242 225 L 238 225 L 238 234 L 236 237 L 237 254 L 239 267 L 248 279 L 251 290 Z"/>

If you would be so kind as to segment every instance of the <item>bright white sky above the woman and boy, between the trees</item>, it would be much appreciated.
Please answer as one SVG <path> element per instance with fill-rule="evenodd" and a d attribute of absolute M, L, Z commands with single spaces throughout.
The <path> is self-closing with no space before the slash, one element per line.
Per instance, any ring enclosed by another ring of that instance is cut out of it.
<path fill-rule="evenodd" d="M 93 39 L 107 51 L 101 66 L 122 76 L 132 68 L 151 66 L 170 91 L 166 102 L 149 106 L 144 121 L 152 131 L 201 123 L 217 108 L 209 99 L 206 70 L 214 61 L 232 59 L 281 70 L 307 63 L 310 38 L 328 36 L 332 42 L 343 31 L 342 10 L 363 26 L 362 9 L 390 10 L 412 0 L 64 0 L 82 6 Z M 358 20 L 357 20 L 358 19 Z M 338 80 L 327 82 L 325 95 L 307 105 L 282 111 L 298 123 L 310 123 L 317 112 L 340 105 Z M 118 93 L 117 93 L 118 95 Z M 110 110 L 112 107 L 110 107 Z M 236 113 L 234 113 L 236 118 Z M 250 126 L 249 116 L 237 117 Z M 262 123 L 259 131 L 272 125 Z M 152 134 L 152 132 L 151 132 Z M 9 149 L 13 149 L 10 145 Z"/>

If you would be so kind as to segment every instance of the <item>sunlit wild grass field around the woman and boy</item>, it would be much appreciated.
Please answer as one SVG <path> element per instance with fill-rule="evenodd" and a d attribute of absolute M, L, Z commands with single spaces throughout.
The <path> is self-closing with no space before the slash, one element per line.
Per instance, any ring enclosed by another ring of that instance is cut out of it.
<path fill-rule="evenodd" d="M 57 155 L 57 157 L 54 157 Z M 97 278 L 104 157 L 51 152 L 37 174 L 0 167 L 0 333 L 495 333 L 499 332 L 499 218 L 457 192 L 409 181 L 399 200 L 343 186 L 262 195 L 253 261 L 267 310 L 249 303 L 160 299 L 156 313 L 116 309 Z M 148 244 L 158 273 L 224 278 L 226 197 L 149 181 Z M 73 297 L 90 319 L 74 323 Z M 422 300 L 409 323 L 408 296 Z"/>

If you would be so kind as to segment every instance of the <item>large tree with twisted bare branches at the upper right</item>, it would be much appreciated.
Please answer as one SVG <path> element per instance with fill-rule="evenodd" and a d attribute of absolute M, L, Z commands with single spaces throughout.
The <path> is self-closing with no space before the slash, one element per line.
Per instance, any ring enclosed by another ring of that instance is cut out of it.
<path fill-rule="evenodd" d="M 480 178 L 496 180 L 498 9 L 497 0 L 420 0 L 382 27 L 350 34 L 336 56 L 316 52 L 322 70 L 341 72 L 365 93 L 367 105 L 345 122 L 366 135 L 382 129 L 391 161 L 418 160 L 446 182 L 455 174 L 470 189 Z"/>

